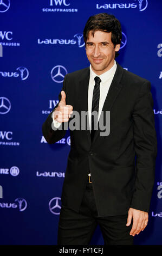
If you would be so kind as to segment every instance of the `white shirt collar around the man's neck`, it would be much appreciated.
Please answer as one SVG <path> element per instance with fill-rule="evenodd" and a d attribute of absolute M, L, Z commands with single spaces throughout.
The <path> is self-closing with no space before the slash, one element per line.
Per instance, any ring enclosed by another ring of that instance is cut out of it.
<path fill-rule="evenodd" d="M 98 77 L 100 77 L 101 82 L 104 83 L 104 82 L 106 82 L 106 80 L 108 80 L 109 78 L 111 78 L 115 74 L 116 67 L 117 67 L 117 65 L 116 65 L 116 62 L 114 60 L 114 65 L 112 66 L 112 68 L 99 76 L 99 75 L 95 74 L 95 72 L 92 70 L 92 67 L 91 67 L 91 64 L 90 64 L 90 66 L 89 66 L 90 79 L 92 79 L 94 81 L 95 76 L 98 76 Z"/>

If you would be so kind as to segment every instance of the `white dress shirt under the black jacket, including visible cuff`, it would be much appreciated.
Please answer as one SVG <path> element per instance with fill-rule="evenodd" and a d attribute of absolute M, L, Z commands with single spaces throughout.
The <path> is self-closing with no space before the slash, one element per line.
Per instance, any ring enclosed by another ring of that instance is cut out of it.
<path fill-rule="evenodd" d="M 99 115 L 98 115 L 98 121 L 100 118 L 100 114 L 102 111 L 103 104 L 105 102 L 109 87 L 111 86 L 113 77 L 115 75 L 115 71 L 117 68 L 116 62 L 114 60 L 114 65 L 112 66 L 111 69 L 103 73 L 102 75 L 97 75 L 95 72 L 92 70 L 92 67 L 90 65 L 90 77 L 89 77 L 89 86 L 88 86 L 88 115 L 89 115 L 89 127 L 91 130 L 91 112 L 92 112 L 92 99 L 93 99 L 93 89 L 95 86 L 95 81 L 94 78 L 95 76 L 100 77 L 101 82 L 100 82 L 100 100 L 99 100 Z M 53 123 L 56 128 L 59 128 L 61 123 L 57 122 L 54 120 L 53 117 Z"/>

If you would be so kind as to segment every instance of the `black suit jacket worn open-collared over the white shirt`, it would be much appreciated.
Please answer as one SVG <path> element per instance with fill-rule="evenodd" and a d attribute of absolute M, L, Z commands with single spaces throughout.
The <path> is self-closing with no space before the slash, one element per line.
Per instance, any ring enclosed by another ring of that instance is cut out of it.
<path fill-rule="evenodd" d="M 89 68 L 64 77 L 62 90 L 73 111 L 88 111 L 88 83 Z M 70 130 L 71 150 L 62 189 L 63 205 L 79 211 L 90 170 L 100 217 L 127 214 L 130 207 L 148 212 L 157 155 L 150 89 L 149 81 L 117 63 L 102 108 L 103 112 L 110 111 L 109 135 L 100 136 L 100 130 L 95 131 L 91 142 L 88 129 Z M 42 127 L 48 143 L 55 143 L 66 134 L 66 130 L 54 131 L 52 122 L 49 114 Z M 64 124 L 60 129 L 64 129 Z"/>

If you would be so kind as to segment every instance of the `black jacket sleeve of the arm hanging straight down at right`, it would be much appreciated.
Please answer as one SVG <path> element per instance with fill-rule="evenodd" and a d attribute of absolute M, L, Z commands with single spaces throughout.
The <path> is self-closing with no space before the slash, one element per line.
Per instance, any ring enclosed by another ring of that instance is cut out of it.
<path fill-rule="evenodd" d="M 149 81 L 142 84 L 133 111 L 136 177 L 130 207 L 146 212 L 150 209 L 157 156 L 157 137 L 150 89 Z"/>

